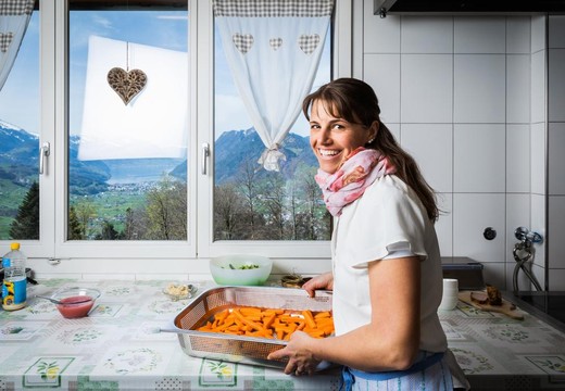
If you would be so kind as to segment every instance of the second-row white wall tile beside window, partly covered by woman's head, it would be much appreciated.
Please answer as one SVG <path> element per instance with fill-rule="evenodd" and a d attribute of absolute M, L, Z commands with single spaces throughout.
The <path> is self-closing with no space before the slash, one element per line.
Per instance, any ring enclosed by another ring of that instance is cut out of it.
<path fill-rule="evenodd" d="M 382 122 L 400 123 L 400 54 L 366 54 L 363 79 L 377 93 Z"/>

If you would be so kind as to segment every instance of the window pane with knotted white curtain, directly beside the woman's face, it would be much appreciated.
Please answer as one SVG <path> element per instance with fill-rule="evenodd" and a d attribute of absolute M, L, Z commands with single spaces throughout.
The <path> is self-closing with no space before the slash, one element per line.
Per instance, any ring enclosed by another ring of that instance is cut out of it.
<path fill-rule="evenodd" d="M 256 2 L 249 14 L 229 2 L 215 5 L 214 240 L 328 240 L 330 217 L 300 109 L 312 90 L 304 85 L 330 80 L 331 2 L 310 3 L 309 17 L 299 2 Z M 273 169 L 259 161 L 274 146 L 281 159 Z"/>

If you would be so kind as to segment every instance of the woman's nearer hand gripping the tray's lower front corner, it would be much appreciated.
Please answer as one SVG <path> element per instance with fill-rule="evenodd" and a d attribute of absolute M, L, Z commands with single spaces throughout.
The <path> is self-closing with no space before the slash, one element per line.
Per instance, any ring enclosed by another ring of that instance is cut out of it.
<path fill-rule="evenodd" d="M 314 358 L 314 354 L 309 349 L 314 338 L 303 331 L 294 331 L 288 344 L 271 353 L 267 360 L 288 358 L 285 374 L 287 375 L 312 375 L 316 370 L 319 361 Z"/>

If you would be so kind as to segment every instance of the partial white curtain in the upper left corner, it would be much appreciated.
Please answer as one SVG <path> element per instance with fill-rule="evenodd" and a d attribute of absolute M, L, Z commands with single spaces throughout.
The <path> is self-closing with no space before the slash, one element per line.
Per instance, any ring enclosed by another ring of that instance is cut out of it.
<path fill-rule="evenodd" d="M 35 0 L 0 0 L 0 90 L 12 70 Z"/>

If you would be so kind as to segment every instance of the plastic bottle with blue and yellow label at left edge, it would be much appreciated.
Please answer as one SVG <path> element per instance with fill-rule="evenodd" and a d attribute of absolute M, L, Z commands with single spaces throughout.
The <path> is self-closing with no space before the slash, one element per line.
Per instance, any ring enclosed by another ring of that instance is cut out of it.
<path fill-rule="evenodd" d="M 2 281 L 2 307 L 14 311 L 25 307 L 27 300 L 27 278 L 25 265 L 27 257 L 20 251 L 20 243 L 10 245 L 10 252 L 2 256 L 4 280 Z"/>

